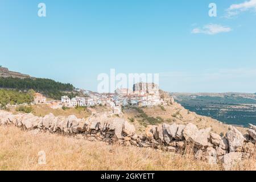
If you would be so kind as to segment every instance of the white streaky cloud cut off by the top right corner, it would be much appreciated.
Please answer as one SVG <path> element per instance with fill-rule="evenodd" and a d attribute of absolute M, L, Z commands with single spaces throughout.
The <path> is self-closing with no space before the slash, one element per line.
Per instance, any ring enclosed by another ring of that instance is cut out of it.
<path fill-rule="evenodd" d="M 240 4 L 233 4 L 226 10 L 226 18 L 240 14 L 242 11 L 256 10 L 256 0 L 245 1 Z"/>

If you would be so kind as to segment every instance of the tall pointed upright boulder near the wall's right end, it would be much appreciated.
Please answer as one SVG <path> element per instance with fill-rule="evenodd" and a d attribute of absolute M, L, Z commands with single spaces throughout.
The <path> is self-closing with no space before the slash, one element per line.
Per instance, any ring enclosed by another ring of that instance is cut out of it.
<path fill-rule="evenodd" d="M 236 129 L 234 126 L 230 126 L 230 130 L 226 134 L 226 138 L 229 143 L 229 152 L 236 152 L 236 149 L 243 146 L 243 142 L 245 142 L 245 137 L 241 134 L 240 131 Z"/>

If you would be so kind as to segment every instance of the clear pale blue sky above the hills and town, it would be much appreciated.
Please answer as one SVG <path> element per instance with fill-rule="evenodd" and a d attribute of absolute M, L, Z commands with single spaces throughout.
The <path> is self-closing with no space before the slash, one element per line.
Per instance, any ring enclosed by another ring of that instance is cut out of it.
<path fill-rule="evenodd" d="M 256 1 L 1 0 L 0 50 L 3 67 L 84 89 L 114 68 L 169 92 L 255 93 Z"/>

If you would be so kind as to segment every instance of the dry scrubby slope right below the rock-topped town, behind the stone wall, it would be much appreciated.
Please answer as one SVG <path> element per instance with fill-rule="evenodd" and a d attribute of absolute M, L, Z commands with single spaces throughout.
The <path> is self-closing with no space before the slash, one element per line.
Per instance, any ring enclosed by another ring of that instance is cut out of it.
<path fill-rule="evenodd" d="M 225 135 L 229 128 L 228 125 L 216 119 L 198 115 L 176 102 L 169 106 L 144 107 L 139 110 L 136 107 L 126 107 L 123 112 L 126 119 L 133 121 L 132 123 L 139 133 L 143 133 L 148 125 L 158 125 L 163 122 L 176 124 L 193 123 L 199 129 L 212 127 L 213 132 L 222 135 Z M 246 131 L 242 127 L 238 127 L 238 129 L 242 133 Z"/>

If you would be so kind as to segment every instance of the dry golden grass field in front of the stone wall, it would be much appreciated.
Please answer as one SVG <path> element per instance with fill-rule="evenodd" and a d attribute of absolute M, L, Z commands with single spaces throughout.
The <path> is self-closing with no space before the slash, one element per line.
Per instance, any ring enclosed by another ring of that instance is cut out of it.
<path fill-rule="evenodd" d="M 192 155 L 175 155 L 150 148 L 109 146 L 103 142 L 22 131 L 0 126 L 0 170 L 222 170 L 193 160 Z M 39 165 L 39 152 L 46 165 Z M 237 170 L 255 170 L 255 160 Z"/>

